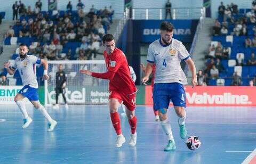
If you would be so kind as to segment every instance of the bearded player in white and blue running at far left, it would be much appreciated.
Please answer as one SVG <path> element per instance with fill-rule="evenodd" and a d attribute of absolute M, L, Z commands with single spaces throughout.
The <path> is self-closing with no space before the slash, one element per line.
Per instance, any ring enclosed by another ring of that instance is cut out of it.
<path fill-rule="evenodd" d="M 27 128 L 30 123 L 33 121 L 26 110 L 25 103 L 22 101 L 25 97 L 28 98 L 28 100 L 35 106 L 36 109 L 42 112 L 44 117 L 49 122 L 49 128 L 47 129 L 49 132 L 54 129 L 54 127 L 57 125 L 57 122 L 53 120 L 50 115 L 45 110 L 44 106 L 41 105 L 38 99 L 38 83 L 36 80 L 35 75 L 35 64 L 42 64 L 44 66 L 44 79 L 49 79 L 49 76 L 47 75 L 47 69 L 48 69 L 48 63 L 46 60 L 39 59 L 34 55 L 28 55 L 28 47 L 26 44 L 21 44 L 19 46 L 19 57 L 15 59 L 14 65 L 10 67 L 10 63 L 6 62 L 4 64 L 4 67 L 6 68 L 7 72 L 10 75 L 13 75 L 13 73 L 16 70 L 19 70 L 20 76 L 22 79 L 22 83 L 24 87 L 17 93 L 17 95 L 14 97 L 14 101 L 18 105 L 24 119 L 24 123 L 22 128 Z"/>

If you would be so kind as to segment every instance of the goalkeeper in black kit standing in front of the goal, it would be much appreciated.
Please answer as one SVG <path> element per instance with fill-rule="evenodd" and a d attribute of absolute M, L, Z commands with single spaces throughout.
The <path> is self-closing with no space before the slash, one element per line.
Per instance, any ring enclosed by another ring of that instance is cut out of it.
<path fill-rule="evenodd" d="M 67 85 L 67 74 L 65 71 L 63 71 L 63 65 L 59 65 L 59 71 L 56 72 L 56 88 L 55 88 L 55 93 L 56 93 L 56 104 L 53 106 L 54 109 L 59 109 L 59 104 L 58 104 L 58 98 L 59 94 L 61 93 L 63 96 L 63 100 L 65 102 L 65 108 L 68 109 L 68 104 L 65 96 L 65 88 Z"/>

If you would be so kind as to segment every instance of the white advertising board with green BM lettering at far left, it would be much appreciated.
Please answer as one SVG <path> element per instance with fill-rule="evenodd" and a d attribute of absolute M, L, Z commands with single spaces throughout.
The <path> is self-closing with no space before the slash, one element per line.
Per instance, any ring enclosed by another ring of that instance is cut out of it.
<path fill-rule="evenodd" d="M 15 104 L 14 97 L 23 86 L 0 86 L 0 104 Z M 27 98 L 23 99 L 27 104 Z"/>

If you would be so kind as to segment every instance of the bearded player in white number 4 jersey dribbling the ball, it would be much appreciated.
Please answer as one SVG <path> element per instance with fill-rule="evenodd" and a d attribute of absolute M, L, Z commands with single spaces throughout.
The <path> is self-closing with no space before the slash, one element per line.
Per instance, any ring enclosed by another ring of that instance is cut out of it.
<path fill-rule="evenodd" d="M 180 137 L 187 137 L 185 127 L 186 119 L 186 93 L 183 85 L 187 85 L 187 78 L 181 69 L 180 62 L 185 61 L 192 72 L 192 85 L 197 85 L 196 68 L 185 46 L 173 37 L 174 27 L 170 22 L 162 22 L 160 26 L 161 38 L 155 40 L 148 47 L 147 67 L 142 83 L 146 85 L 152 72 L 153 64 L 156 64 L 154 81 L 154 109 L 158 110 L 162 128 L 168 137 L 168 144 L 164 151 L 175 150 L 175 142 L 171 125 L 167 117 L 167 109 L 170 100 L 173 103 L 178 116 Z"/>

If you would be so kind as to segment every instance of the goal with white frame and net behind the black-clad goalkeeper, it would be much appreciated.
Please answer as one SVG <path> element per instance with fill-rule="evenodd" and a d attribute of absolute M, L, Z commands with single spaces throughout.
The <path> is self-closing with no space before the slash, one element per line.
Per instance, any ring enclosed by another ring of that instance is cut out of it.
<path fill-rule="evenodd" d="M 99 79 L 79 73 L 80 69 L 88 69 L 92 72 L 106 72 L 105 61 L 48 61 L 49 80 L 44 81 L 45 105 L 55 104 L 56 72 L 59 65 L 63 65 L 63 71 L 67 74 L 65 95 L 69 104 L 107 104 L 109 80 Z M 58 103 L 64 103 L 62 95 L 59 95 Z"/>

